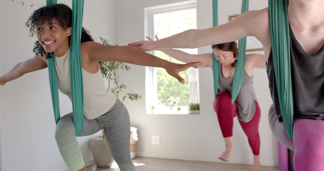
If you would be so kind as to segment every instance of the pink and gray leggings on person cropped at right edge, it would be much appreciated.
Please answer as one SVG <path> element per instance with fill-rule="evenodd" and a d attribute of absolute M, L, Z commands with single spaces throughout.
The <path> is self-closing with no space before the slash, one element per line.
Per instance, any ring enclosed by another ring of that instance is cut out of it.
<path fill-rule="evenodd" d="M 269 124 L 273 134 L 288 148 L 295 151 L 295 171 L 324 170 L 324 121 L 313 119 L 294 119 L 293 140 L 288 138 L 284 123 L 278 122 L 272 104 L 269 109 Z"/>

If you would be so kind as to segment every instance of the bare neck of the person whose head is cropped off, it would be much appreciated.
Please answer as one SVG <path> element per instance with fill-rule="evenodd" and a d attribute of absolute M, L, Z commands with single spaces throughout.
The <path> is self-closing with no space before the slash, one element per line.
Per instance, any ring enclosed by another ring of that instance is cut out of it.
<path fill-rule="evenodd" d="M 290 0 L 289 22 L 303 27 L 316 26 L 324 21 L 323 0 Z"/>

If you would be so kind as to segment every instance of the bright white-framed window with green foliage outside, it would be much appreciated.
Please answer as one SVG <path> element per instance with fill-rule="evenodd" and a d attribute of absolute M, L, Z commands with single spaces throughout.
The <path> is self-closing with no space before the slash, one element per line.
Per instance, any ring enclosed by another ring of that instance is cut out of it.
<path fill-rule="evenodd" d="M 145 8 L 145 35 L 155 39 L 196 29 L 196 1 Z M 197 54 L 197 49 L 181 49 Z M 180 62 L 161 51 L 151 54 L 174 63 Z M 170 76 L 163 68 L 145 68 L 146 112 L 149 114 L 188 114 L 189 103 L 199 103 L 198 70 L 181 72 L 185 84 Z"/>

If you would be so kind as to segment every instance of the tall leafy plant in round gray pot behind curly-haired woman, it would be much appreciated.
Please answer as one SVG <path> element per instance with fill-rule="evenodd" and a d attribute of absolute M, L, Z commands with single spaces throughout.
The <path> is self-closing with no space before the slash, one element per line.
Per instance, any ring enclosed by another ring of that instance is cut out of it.
<path fill-rule="evenodd" d="M 110 45 L 108 40 L 100 37 L 100 43 L 106 46 L 118 46 L 117 44 Z M 122 97 L 122 101 L 126 98 L 130 100 L 141 99 L 142 96 L 134 93 L 129 86 L 121 83 L 119 81 L 119 76 L 117 75 L 117 70 L 131 71 L 131 68 L 122 62 L 101 62 L 100 71 L 102 77 L 108 81 L 108 88 L 112 93 L 119 97 L 119 93 L 123 90 L 129 89 L 129 92 Z M 133 133 L 134 134 L 134 133 Z M 137 134 L 137 133 L 136 133 Z M 130 135 L 135 136 L 135 135 Z M 137 137 L 137 136 L 136 136 Z M 137 141 L 137 140 L 136 140 Z M 134 151 L 134 140 L 131 140 L 132 151 Z M 136 147 L 136 145 L 135 145 Z M 98 167 L 109 168 L 114 164 L 114 159 L 111 155 L 107 140 L 105 139 L 104 130 L 102 129 L 102 136 L 92 137 L 90 139 L 90 148 L 93 159 Z M 132 154 L 134 156 L 134 154 Z"/>

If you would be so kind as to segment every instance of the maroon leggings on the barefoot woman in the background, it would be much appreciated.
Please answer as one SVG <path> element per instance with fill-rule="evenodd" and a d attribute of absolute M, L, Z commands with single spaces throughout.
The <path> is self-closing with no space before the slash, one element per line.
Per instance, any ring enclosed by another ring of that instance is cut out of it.
<path fill-rule="evenodd" d="M 260 153 L 260 137 L 259 137 L 259 122 L 260 122 L 260 107 L 255 101 L 256 110 L 253 118 L 249 122 L 238 120 L 243 131 L 248 137 L 250 147 L 254 155 Z M 226 92 L 217 94 L 217 100 L 214 100 L 214 110 L 217 113 L 217 118 L 223 137 L 233 136 L 233 118 L 238 115 L 236 103 L 232 105 L 231 95 Z M 237 117 L 238 119 L 238 117 Z"/>

